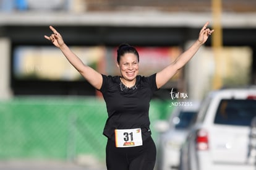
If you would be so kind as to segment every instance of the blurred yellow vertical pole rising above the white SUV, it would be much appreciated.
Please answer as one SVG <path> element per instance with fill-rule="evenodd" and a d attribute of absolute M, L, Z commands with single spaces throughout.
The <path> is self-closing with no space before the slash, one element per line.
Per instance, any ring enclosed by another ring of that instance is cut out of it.
<path fill-rule="evenodd" d="M 221 63 L 221 49 L 223 46 L 223 33 L 221 25 L 222 0 L 211 0 L 211 11 L 213 17 L 213 30 L 215 30 L 211 38 L 213 54 L 215 57 L 213 88 L 218 89 L 222 86 L 221 68 L 218 67 L 218 64 Z"/>

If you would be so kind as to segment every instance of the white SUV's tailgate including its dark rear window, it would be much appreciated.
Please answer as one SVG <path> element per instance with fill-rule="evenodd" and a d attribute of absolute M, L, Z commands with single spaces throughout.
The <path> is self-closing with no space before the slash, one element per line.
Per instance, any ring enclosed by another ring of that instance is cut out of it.
<path fill-rule="evenodd" d="M 208 134 L 213 163 L 247 163 L 250 122 L 255 116 L 255 100 L 221 100 Z"/>

